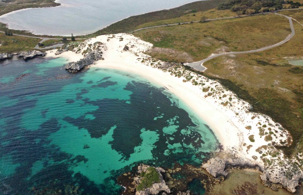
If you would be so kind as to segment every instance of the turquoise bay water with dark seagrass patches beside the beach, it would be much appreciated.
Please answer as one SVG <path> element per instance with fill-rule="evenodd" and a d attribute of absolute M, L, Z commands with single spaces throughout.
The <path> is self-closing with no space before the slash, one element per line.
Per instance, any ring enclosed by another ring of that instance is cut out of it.
<path fill-rule="evenodd" d="M 0 194 L 118 194 L 117 176 L 138 163 L 199 166 L 218 149 L 161 86 L 111 69 L 71 74 L 65 63 L 0 65 Z"/>

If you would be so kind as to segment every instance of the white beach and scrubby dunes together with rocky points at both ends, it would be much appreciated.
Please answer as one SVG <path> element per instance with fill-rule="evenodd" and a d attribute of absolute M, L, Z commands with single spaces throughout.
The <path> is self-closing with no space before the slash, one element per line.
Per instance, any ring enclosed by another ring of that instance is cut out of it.
<path fill-rule="evenodd" d="M 219 82 L 182 64 L 151 58 L 147 53 L 153 45 L 130 34 L 102 35 L 72 48 L 82 59 L 68 63 L 65 67 L 68 71 L 77 72 L 94 64 L 91 66 L 133 70 L 147 77 L 154 75 L 158 82 L 187 102 L 205 119 L 222 144 L 222 155 L 202 165 L 213 177 L 226 177 L 228 168 L 243 167 L 257 168 L 265 186 L 273 190 L 284 187 L 295 192 L 301 183 L 302 152 L 287 156 L 279 149 L 292 144 L 288 130 L 271 117 L 252 112 L 248 102 Z"/>

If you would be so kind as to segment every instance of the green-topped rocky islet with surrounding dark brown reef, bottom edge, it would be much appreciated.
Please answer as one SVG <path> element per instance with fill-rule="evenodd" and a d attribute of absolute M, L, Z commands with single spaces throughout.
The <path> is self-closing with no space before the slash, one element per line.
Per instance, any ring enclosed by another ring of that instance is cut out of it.
<path fill-rule="evenodd" d="M 173 170 L 164 170 L 163 168 L 140 164 L 138 167 L 133 168 L 131 172 L 119 176 L 118 183 L 125 188 L 125 191 L 121 193 L 124 195 L 191 195 L 194 193 L 186 190 L 187 184 L 193 178 L 201 176 L 200 173 L 191 174 L 192 177 L 187 181 L 185 178 L 180 180 L 173 179 L 169 172 L 177 175 L 189 174 L 191 171 L 197 170 L 189 165 L 182 167 L 178 164 L 175 165 Z M 174 183 L 178 183 L 178 186 L 175 186 Z"/>

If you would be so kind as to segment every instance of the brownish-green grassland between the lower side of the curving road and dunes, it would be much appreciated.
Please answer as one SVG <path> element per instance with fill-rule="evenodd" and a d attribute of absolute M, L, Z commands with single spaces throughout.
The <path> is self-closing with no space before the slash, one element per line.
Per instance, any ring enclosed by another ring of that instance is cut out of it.
<path fill-rule="evenodd" d="M 303 18 L 303 11 L 291 12 Z M 303 58 L 303 26 L 295 22 L 294 26 L 295 37 L 281 46 L 235 57 L 222 56 L 204 64 L 207 75 L 237 85 L 244 90 L 237 94 L 250 101 L 256 111 L 270 115 L 291 132 L 294 144 L 284 148 L 288 154 L 295 147 L 303 149 L 303 68 L 292 66 L 287 60 Z"/>

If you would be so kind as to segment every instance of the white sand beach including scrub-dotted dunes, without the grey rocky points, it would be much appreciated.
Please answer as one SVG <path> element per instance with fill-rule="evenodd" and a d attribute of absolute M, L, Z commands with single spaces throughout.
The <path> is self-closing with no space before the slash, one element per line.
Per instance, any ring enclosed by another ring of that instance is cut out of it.
<path fill-rule="evenodd" d="M 250 104 L 216 81 L 181 66 L 163 68 L 166 62 L 152 59 L 145 53 L 151 49 L 151 43 L 131 34 L 102 35 L 80 44 L 74 49 L 78 54 L 69 51 L 58 56 L 77 61 L 83 58 L 81 53 L 92 50 L 96 42 L 102 43 L 104 60 L 90 66 L 132 72 L 167 88 L 205 120 L 223 145 L 222 152 L 243 157 L 268 172 L 274 171 L 276 177 L 288 166 L 288 159 L 284 159 L 284 166 L 279 165 L 284 153 L 273 147 L 291 144 L 292 137 L 286 129 L 264 114 L 251 112 Z M 125 46 L 128 49 L 124 50 Z M 53 55 L 54 52 L 48 53 L 48 56 Z M 178 71 L 182 72 L 179 78 L 175 76 Z M 190 81 L 188 76 L 191 76 Z M 271 167 L 266 160 L 271 161 Z"/>

